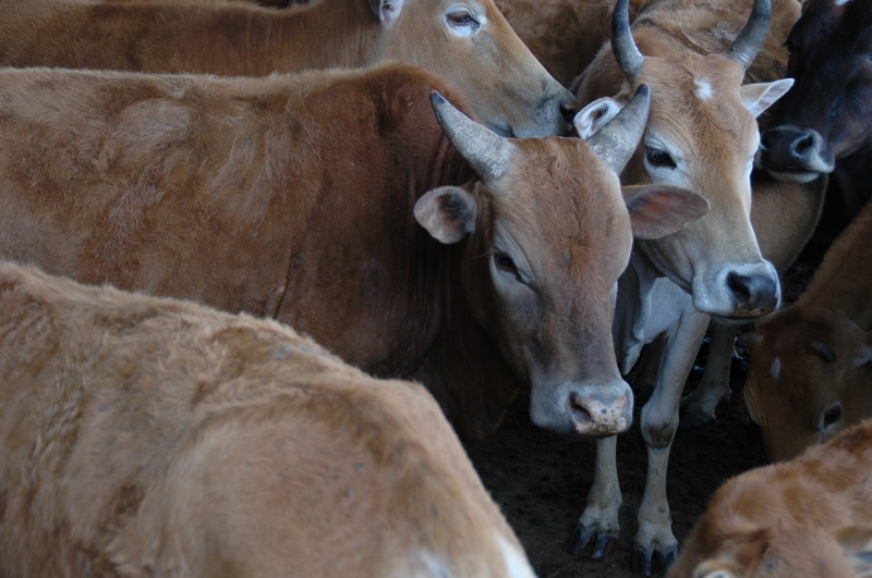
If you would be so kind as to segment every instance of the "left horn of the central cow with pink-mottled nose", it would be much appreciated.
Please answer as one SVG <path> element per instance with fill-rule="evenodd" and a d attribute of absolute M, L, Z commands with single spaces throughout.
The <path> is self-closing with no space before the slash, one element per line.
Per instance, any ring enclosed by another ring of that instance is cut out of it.
<path fill-rule="evenodd" d="M 514 145 L 457 110 L 434 90 L 429 96 L 436 119 L 448 140 L 469 162 L 485 184 L 498 179 L 509 165 Z"/>

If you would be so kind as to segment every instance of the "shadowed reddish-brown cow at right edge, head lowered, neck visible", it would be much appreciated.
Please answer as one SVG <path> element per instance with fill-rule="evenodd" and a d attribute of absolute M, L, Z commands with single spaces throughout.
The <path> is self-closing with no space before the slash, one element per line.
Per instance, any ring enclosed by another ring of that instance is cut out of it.
<path fill-rule="evenodd" d="M 807 290 L 743 336 L 748 409 L 773 460 L 872 417 L 872 205 L 827 250 Z"/>

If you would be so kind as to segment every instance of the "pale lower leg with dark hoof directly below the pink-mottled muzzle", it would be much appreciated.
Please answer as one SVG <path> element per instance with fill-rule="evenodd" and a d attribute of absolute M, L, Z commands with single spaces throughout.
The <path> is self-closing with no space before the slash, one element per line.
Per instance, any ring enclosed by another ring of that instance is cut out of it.
<path fill-rule="evenodd" d="M 618 511 L 622 497 L 618 483 L 618 436 L 609 435 L 596 441 L 596 467 L 593 485 L 588 494 L 588 504 L 569 538 L 569 553 L 581 555 L 585 546 L 593 544 L 591 557 L 600 559 L 615 548 L 620 531 Z"/>

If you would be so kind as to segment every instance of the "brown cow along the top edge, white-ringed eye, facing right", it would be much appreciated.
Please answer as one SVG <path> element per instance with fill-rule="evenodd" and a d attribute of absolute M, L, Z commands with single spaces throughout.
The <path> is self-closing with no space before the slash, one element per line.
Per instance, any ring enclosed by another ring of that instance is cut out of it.
<path fill-rule="evenodd" d="M 444 75 L 504 136 L 562 134 L 578 112 L 572 94 L 542 67 L 493 0 L 322 0 L 294 10 L 0 1 L 3 66 L 262 76 L 385 61 Z"/>

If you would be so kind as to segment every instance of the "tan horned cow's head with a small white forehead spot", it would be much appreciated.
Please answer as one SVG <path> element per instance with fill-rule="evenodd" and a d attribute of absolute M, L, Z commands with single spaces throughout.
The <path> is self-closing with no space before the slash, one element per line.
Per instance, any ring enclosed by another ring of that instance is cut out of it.
<path fill-rule="evenodd" d="M 662 274 L 692 294 L 698 310 L 727 319 L 767 313 L 780 298 L 780 285 L 751 227 L 755 116 L 789 88 L 790 81 L 741 83 L 766 36 L 768 0 L 756 0 L 730 49 L 714 54 L 678 48 L 645 26 L 634 39 L 627 3 L 617 3 L 613 20 L 611 66 L 623 76 L 616 98 L 626 100 L 635 86 L 647 84 L 651 114 L 622 181 L 687 188 L 707 199 L 711 208 L 694 224 L 639 247 Z M 601 64 L 608 62 L 597 59 L 589 69 L 581 100 L 590 99 L 588 85 L 602 77 L 592 70 Z"/>

